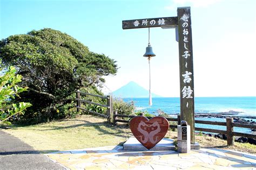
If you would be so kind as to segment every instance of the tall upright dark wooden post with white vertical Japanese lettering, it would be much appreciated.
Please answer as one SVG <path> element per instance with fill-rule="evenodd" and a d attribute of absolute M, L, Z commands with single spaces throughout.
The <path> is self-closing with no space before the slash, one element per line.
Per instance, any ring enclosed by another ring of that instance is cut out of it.
<path fill-rule="evenodd" d="M 180 116 L 191 129 L 194 144 L 194 71 L 190 7 L 177 9 L 179 35 Z"/>

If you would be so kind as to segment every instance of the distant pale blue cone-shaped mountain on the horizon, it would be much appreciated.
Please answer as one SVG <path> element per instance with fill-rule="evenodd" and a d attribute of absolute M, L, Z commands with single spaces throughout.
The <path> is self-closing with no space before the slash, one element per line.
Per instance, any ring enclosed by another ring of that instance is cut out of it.
<path fill-rule="evenodd" d="M 134 81 L 130 81 L 126 85 L 120 87 L 118 90 L 112 92 L 113 96 L 121 98 L 146 98 L 149 97 L 149 90 L 144 89 L 144 87 L 138 85 Z M 161 97 L 157 94 L 151 93 L 151 96 Z"/>

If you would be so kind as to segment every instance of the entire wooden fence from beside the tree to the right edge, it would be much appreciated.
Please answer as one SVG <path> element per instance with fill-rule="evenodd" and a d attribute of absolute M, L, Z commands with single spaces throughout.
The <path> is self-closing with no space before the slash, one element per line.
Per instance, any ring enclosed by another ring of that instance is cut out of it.
<path fill-rule="evenodd" d="M 92 101 L 87 101 L 81 99 L 80 95 L 89 95 L 89 96 L 94 96 L 94 97 L 99 97 L 102 99 L 107 99 L 106 105 L 94 103 Z M 90 94 L 90 93 L 85 93 L 82 91 L 76 91 L 76 100 L 77 100 L 77 111 L 83 110 L 86 112 L 90 112 L 96 115 L 99 115 L 100 117 L 107 118 L 107 121 L 113 125 L 116 125 L 117 122 L 121 123 L 129 123 L 129 120 L 123 120 L 123 119 L 118 119 L 118 118 L 133 118 L 136 117 L 136 115 L 124 115 L 124 114 L 118 114 L 116 111 L 113 112 L 113 104 L 112 104 L 112 96 L 100 96 L 96 94 Z M 97 113 L 93 112 L 90 110 L 86 110 L 85 108 L 81 107 L 81 103 L 89 103 L 101 107 L 106 107 L 107 108 L 107 114 L 102 114 L 102 113 Z M 152 117 L 147 117 L 148 119 L 151 119 Z M 180 115 L 178 115 L 177 118 L 166 118 L 168 121 L 176 121 L 178 125 L 180 125 Z M 196 131 L 201 131 L 201 132 L 211 132 L 211 133 L 220 133 L 220 134 L 225 134 L 227 137 L 227 145 L 234 145 L 234 136 L 238 137 L 246 137 L 246 138 L 252 138 L 256 139 L 256 134 L 248 134 L 248 133 L 240 133 L 240 132 L 234 132 L 234 127 L 243 127 L 243 128 L 251 128 L 251 129 L 256 129 L 256 125 L 249 125 L 249 124 L 239 124 L 239 123 L 234 123 L 233 118 L 226 118 L 226 122 L 218 122 L 218 121 L 205 121 L 205 120 L 195 120 L 195 123 L 197 124 L 206 124 L 206 125 L 219 125 L 219 126 L 226 126 L 226 131 L 224 130 L 215 130 L 211 128 L 201 128 L 201 127 L 196 127 Z M 177 125 L 170 125 L 170 128 L 177 128 Z"/>

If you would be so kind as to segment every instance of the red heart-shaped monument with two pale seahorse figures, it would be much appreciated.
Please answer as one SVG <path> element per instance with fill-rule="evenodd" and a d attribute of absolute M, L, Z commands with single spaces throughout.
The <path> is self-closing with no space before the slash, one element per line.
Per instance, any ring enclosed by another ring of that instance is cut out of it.
<path fill-rule="evenodd" d="M 169 130 L 169 121 L 164 117 L 153 117 L 150 120 L 137 116 L 130 120 L 132 134 L 147 149 L 156 146 Z"/>

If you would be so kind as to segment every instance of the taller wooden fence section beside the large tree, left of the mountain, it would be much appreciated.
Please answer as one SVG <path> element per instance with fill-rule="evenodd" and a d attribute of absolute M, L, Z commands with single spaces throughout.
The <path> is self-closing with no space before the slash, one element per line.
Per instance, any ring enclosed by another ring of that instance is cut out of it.
<path fill-rule="evenodd" d="M 81 99 L 81 95 L 89 95 L 89 96 L 93 96 L 93 97 L 106 99 L 107 102 L 106 102 L 106 105 L 103 105 L 103 104 L 95 103 L 95 102 L 92 102 L 92 101 L 83 100 L 83 99 Z M 100 117 L 107 118 L 108 121 L 111 121 L 110 118 L 112 117 L 111 115 L 113 114 L 112 96 L 100 96 L 100 95 L 97 95 L 97 94 L 85 93 L 85 92 L 82 92 L 82 91 L 78 90 L 78 91 L 76 91 L 76 101 L 77 101 L 77 106 L 76 106 L 77 107 L 77 112 L 79 112 L 80 110 L 86 111 L 86 112 L 89 112 L 89 113 L 99 115 Z M 88 104 L 97 105 L 97 106 L 100 106 L 100 107 L 105 107 L 105 108 L 107 108 L 107 114 L 105 115 L 105 114 L 102 114 L 102 113 L 87 110 L 86 108 L 81 107 L 82 103 L 88 103 Z"/>

